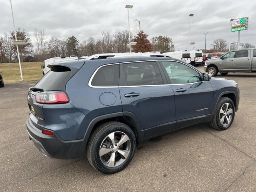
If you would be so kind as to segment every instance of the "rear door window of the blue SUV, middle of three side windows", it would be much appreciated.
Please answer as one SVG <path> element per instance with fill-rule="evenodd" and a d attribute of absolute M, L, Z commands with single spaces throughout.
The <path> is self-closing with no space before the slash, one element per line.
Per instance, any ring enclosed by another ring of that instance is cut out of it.
<path fill-rule="evenodd" d="M 123 64 L 123 71 L 127 86 L 164 84 L 156 61 Z"/>

